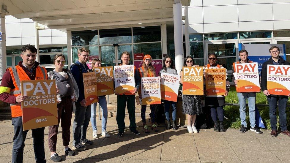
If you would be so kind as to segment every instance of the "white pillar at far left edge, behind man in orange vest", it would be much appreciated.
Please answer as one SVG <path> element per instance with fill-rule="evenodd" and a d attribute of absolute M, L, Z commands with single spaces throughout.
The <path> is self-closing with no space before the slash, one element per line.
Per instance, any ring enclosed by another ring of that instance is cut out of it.
<path fill-rule="evenodd" d="M 0 78 L 2 79 L 3 74 L 7 68 L 6 61 L 6 31 L 5 31 L 5 15 L 0 14 L 0 32 L 2 32 L 2 41 L 0 41 Z"/>

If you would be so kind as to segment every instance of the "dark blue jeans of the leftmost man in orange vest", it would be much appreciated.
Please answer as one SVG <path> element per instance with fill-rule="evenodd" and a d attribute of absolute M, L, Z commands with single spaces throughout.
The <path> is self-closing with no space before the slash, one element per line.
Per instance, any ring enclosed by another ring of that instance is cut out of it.
<path fill-rule="evenodd" d="M 27 132 L 23 131 L 22 117 L 12 118 L 12 125 L 14 128 L 13 148 L 12 148 L 12 162 L 23 162 L 23 148 Z M 35 161 L 37 163 L 46 162 L 44 153 L 44 127 L 32 129 L 33 149 Z"/>

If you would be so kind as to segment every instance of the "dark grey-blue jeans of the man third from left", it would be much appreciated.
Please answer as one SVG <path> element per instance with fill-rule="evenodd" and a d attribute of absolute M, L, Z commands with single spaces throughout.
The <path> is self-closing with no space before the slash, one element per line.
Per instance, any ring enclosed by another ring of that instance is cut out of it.
<path fill-rule="evenodd" d="M 75 120 L 73 121 L 73 145 L 77 145 L 86 139 L 86 129 L 91 118 L 91 105 L 81 106 L 80 102 L 75 102 Z"/>

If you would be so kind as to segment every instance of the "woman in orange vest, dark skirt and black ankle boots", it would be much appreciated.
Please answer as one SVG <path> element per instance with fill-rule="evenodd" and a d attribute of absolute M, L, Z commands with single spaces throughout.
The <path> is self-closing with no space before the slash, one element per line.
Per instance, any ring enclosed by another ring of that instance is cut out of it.
<path fill-rule="evenodd" d="M 209 64 L 204 66 L 205 69 L 222 69 L 223 66 L 216 63 L 218 56 L 215 53 L 210 53 L 208 56 Z M 205 90 L 205 89 L 204 89 Z M 223 124 L 223 106 L 225 105 L 225 96 L 228 95 L 230 90 L 230 83 L 228 77 L 226 76 L 226 92 L 224 96 L 207 96 L 207 92 L 204 93 L 205 104 L 210 108 L 210 114 L 214 122 L 214 130 L 216 132 L 225 132 L 225 127 Z M 218 120 L 217 120 L 218 116 Z"/>

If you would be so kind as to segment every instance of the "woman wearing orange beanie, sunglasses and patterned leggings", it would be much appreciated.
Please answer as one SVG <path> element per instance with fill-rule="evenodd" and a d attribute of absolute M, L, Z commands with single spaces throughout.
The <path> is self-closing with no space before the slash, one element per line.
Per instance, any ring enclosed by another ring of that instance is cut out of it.
<path fill-rule="evenodd" d="M 151 61 L 152 61 L 151 56 L 149 54 L 146 54 L 143 58 L 143 66 L 138 68 L 140 77 L 155 77 L 156 76 L 155 68 L 153 67 Z M 142 99 L 141 87 L 139 87 L 138 95 L 139 95 L 139 98 Z M 146 106 L 147 105 L 141 105 L 141 118 L 143 122 L 143 131 L 146 134 L 148 134 L 149 128 L 146 124 L 146 118 L 145 118 Z M 159 130 L 157 129 L 157 126 L 155 124 L 155 105 L 150 105 L 150 110 L 151 110 L 150 118 L 151 118 L 151 124 L 152 124 L 151 129 L 157 132 Z"/>

